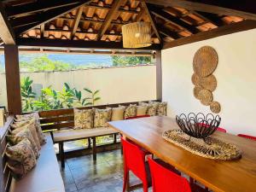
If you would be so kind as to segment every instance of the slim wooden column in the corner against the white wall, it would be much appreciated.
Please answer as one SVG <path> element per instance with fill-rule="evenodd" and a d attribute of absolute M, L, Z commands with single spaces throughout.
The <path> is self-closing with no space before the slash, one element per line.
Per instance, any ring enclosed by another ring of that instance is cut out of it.
<path fill-rule="evenodd" d="M 156 60 L 156 99 L 162 100 L 162 62 L 161 62 L 160 50 L 156 51 L 155 60 Z"/>

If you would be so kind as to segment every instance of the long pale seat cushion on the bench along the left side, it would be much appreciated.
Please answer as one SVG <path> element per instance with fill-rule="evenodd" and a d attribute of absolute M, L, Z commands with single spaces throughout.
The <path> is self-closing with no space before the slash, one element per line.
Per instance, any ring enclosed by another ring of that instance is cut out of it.
<path fill-rule="evenodd" d="M 60 167 L 50 135 L 42 146 L 38 164 L 20 181 L 12 179 L 9 192 L 65 192 Z"/>

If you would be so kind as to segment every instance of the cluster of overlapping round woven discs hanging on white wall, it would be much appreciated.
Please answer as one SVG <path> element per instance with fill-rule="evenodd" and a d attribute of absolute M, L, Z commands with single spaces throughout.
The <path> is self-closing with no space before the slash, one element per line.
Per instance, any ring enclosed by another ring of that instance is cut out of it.
<path fill-rule="evenodd" d="M 212 92 L 217 88 L 217 79 L 212 74 L 218 66 L 218 54 L 210 46 L 198 49 L 193 59 L 194 74 L 192 83 L 195 84 L 194 96 L 203 105 L 210 106 L 212 113 L 220 112 L 219 102 L 213 102 Z"/>

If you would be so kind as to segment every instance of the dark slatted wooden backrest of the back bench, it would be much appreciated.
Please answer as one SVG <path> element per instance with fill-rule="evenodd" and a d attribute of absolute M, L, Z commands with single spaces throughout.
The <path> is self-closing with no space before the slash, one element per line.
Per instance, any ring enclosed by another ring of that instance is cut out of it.
<path fill-rule="evenodd" d="M 94 106 L 94 107 L 84 107 L 81 109 L 117 108 L 119 107 L 119 105 L 129 106 L 130 104 L 138 104 L 138 102 L 116 103 L 116 104 L 101 105 L 101 106 Z M 61 128 L 73 128 L 74 126 L 73 115 L 74 115 L 73 108 L 39 112 L 42 130 L 52 131 L 52 130 L 60 130 Z"/>

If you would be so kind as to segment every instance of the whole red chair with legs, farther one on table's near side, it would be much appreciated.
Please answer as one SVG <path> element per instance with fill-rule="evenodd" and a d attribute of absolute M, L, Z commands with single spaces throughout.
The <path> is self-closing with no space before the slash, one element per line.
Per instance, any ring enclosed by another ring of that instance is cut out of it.
<path fill-rule="evenodd" d="M 148 187 L 151 186 L 151 177 L 149 172 L 148 161 L 145 161 L 146 153 L 137 145 L 126 141 L 121 137 L 121 142 L 124 151 L 124 186 L 123 192 L 125 192 L 128 180 L 129 172 L 133 172 L 143 182 L 143 192 L 148 192 Z M 156 160 L 161 165 L 166 165 L 161 160 Z M 177 175 L 181 175 L 173 166 L 167 166 L 170 171 L 175 172 Z M 175 174 L 174 173 L 174 174 Z"/>

